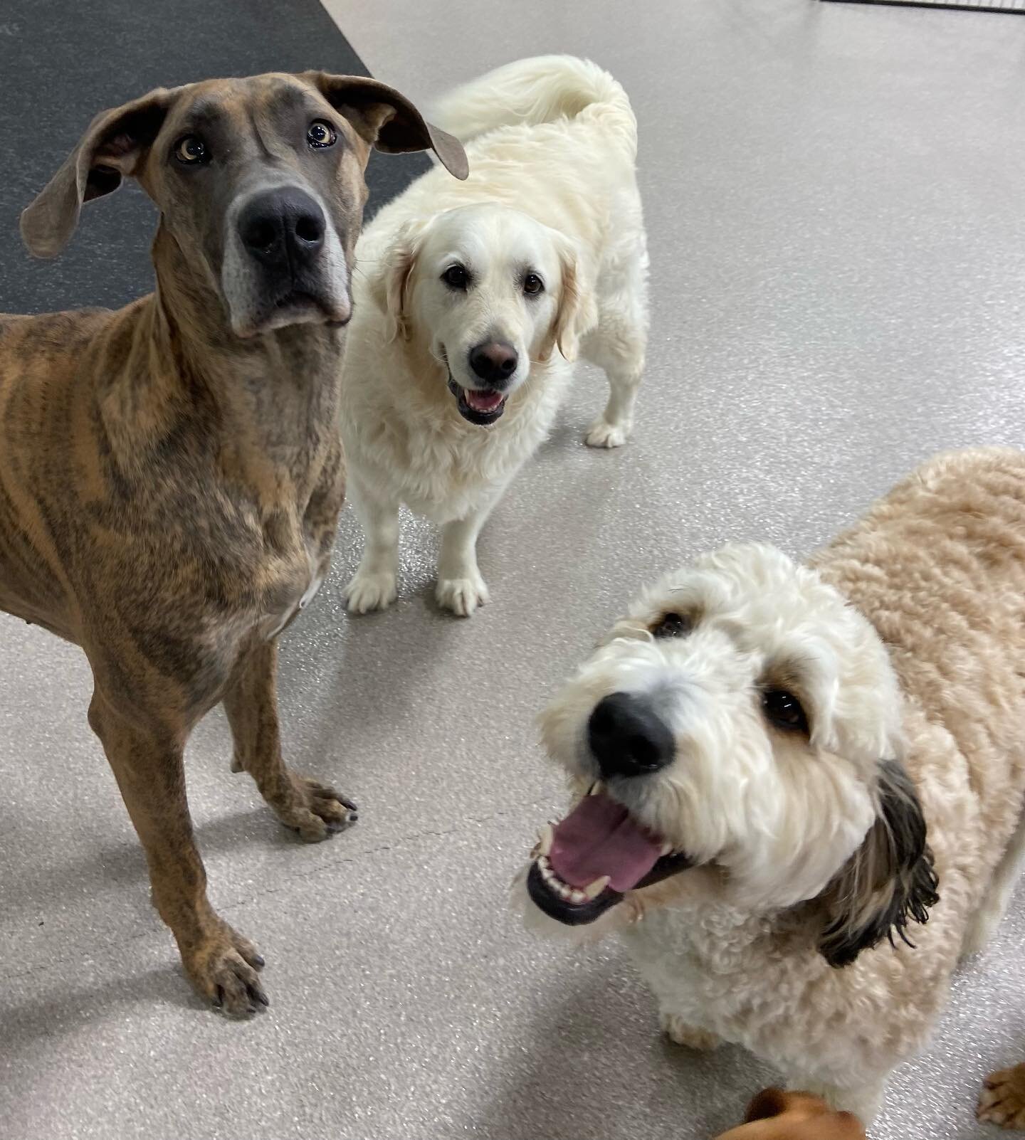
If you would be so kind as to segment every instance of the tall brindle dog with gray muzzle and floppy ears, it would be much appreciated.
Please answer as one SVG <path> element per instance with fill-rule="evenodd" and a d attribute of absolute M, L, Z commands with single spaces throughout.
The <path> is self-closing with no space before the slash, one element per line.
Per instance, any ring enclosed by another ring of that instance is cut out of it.
<path fill-rule="evenodd" d="M 371 147 L 459 144 L 372 80 L 304 73 L 156 90 L 93 120 L 22 218 L 57 254 L 131 176 L 160 209 L 156 291 L 117 312 L 0 317 L 0 608 L 82 646 L 89 723 L 198 991 L 267 1004 L 213 911 L 182 749 L 222 701 L 233 767 L 307 840 L 356 819 L 282 762 L 275 637 L 327 571 L 344 466 L 342 328 Z"/>

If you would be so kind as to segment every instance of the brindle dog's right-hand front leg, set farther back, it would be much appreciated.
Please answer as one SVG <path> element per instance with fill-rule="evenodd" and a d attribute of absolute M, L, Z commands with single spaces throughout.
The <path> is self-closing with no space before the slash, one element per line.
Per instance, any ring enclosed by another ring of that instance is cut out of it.
<path fill-rule="evenodd" d="M 235 772 L 249 772 L 286 826 L 317 842 L 355 823 L 356 805 L 327 784 L 295 775 L 282 760 L 277 718 L 277 643 L 259 642 L 239 661 L 223 697 L 235 738 Z"/>

